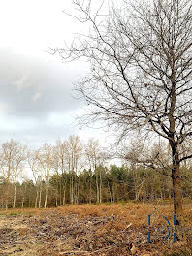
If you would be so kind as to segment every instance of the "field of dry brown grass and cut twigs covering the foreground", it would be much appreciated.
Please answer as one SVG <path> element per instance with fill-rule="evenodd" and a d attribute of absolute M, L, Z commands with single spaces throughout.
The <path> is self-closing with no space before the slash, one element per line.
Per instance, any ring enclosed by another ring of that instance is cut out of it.
<path fill-rule="evenodd" d="M 148 214 L 151 226 L 146 229 Z M 192 205 L 184 205 L 186 242 L 157 227 L 173 223 L 173 206 L 150 204 L 73 205 L 0 211 L 0 256 L 192 255 Z M 145 229 L 141 229 L 145 226 Z M 148 243 L 148 232 L 151 242 Z"/>

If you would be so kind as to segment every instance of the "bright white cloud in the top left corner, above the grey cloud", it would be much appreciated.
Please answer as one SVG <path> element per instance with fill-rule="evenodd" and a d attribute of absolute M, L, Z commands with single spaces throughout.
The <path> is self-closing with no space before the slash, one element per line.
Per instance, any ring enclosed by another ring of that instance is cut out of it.
<path fill-rule="evenodd" d="M 78 21 L 62 12 L 73 10 L 71 0 L 0 0 L 0 6 L 0 46 L 24 55 L 39 58 L 48 46 L 63 46 L 64 36 L 72 40 L 77 31 Z"/>

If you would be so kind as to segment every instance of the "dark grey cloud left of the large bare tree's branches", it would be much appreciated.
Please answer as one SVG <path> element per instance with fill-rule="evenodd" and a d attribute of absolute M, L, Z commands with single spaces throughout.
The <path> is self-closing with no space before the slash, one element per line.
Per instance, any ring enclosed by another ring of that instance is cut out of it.
<path fill-rule="evenodd" d="M 70 92 L 77 71 L 69 72 L 67 64 L 35 62 L 8 51 L 0 56 L 0 102 L 8 104 L 8 114 L 44 118 L 80 107 Z"/>

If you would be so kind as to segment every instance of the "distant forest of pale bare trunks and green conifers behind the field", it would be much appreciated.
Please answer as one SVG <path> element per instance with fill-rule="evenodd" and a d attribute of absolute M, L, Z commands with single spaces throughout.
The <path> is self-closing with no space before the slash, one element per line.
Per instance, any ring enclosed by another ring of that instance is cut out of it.
<path fill-rule="evenodd" d="M 73 135 L 37 150 L 10 140 L 1 144 L 0 153 L 2 209 L 129 200 L 152 202 L 173 197 L 169 172 L 157 172 L 152 165 L 134 161 L 124 161 L 120 167 L 109 165 L 108 154 L 94 139 L 83 144 Z M 189 199 L 191 171 L 192 165 L 185 162 L 181 167 L 182 191 L 183 197 Z"/>

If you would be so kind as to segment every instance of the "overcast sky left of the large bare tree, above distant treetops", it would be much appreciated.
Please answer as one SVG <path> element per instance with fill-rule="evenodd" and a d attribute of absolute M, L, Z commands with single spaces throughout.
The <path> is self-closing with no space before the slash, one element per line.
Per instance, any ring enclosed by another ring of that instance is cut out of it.
<path fill-rule="evenodd" d="M 74 124 L 83 103 L 71 90 L 87 65 L 48 54 L 82 29 L 62 10 L 73 12 L 72 1 L 0 0 L 0 143 L 13 138 L 37 147 L 70 134 L 99 134 Z"/>

